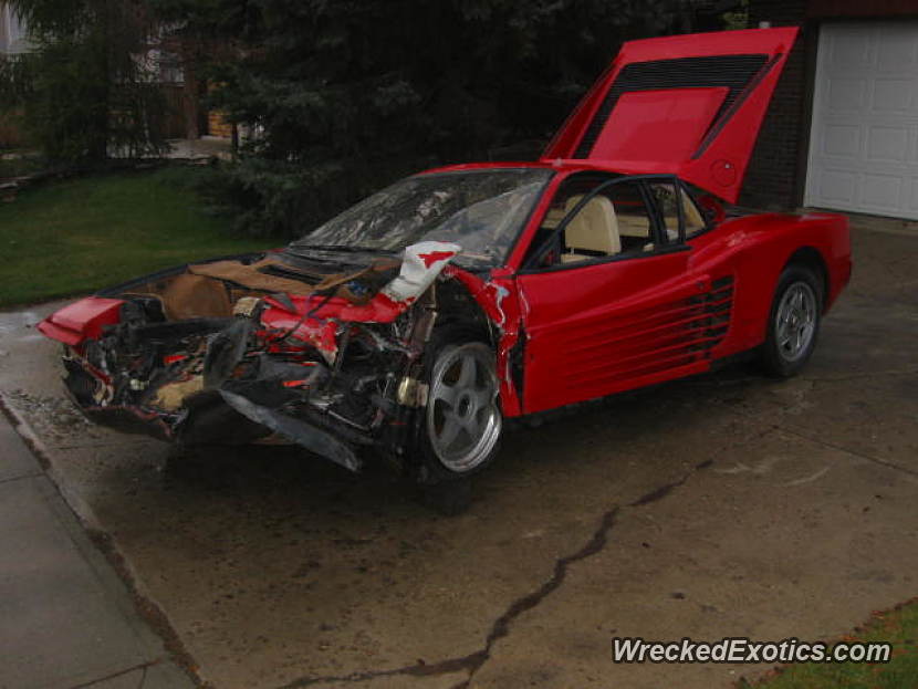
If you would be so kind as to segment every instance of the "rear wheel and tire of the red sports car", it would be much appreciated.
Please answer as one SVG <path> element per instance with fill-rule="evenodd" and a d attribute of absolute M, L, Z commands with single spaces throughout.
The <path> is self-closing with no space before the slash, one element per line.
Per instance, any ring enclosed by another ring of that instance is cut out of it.
<path fill-rule="evenodd" d="M 775 378 L 795 376 L 810 361 L 820 334 L 823 285 L 811 268 L 792 263 L 778 280 L 761 364 Z"/>

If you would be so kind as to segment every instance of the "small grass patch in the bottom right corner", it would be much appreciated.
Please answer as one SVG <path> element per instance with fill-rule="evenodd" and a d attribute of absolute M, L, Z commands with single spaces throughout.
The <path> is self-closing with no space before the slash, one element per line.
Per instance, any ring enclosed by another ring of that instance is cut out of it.
<path fill-rule="evenodd" d="M 869 624 L 842 641 L 889 641 L 888 664 L 799 664 L 738 689 L 914 689 L 918 687 L 918 598 L 888 613 L 874 613 Z"/>

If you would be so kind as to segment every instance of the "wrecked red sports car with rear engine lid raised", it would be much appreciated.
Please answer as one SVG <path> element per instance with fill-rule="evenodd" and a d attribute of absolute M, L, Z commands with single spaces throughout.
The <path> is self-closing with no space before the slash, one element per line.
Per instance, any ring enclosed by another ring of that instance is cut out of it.
<path fill-rule="evenodd" d="M 795 29 L 635 41 L 534 163 L 429 170 L 282 250 L 103 290 L 41 331 L 100 424 L 299 443 L 423 483 L 505 419 L 710 370 L 809 359 L 846 220 L 728 215 Z"/>

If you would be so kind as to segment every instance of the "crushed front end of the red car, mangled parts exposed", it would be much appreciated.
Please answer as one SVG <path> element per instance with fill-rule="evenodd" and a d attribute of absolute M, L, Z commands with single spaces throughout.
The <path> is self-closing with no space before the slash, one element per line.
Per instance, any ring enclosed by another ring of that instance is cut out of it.
<path fill-rule="evenodd" d="M 436 283 L 458 288 L 441 272 L 459 250 L 421 242 L 345 270 L 281 253 L 191 264 L 39 327 L 64 343 L 66 387 L 98 424 L 186 445 L 293 442 L 358 470 L 359 448 L 398 459 L 409 443 Z"/>

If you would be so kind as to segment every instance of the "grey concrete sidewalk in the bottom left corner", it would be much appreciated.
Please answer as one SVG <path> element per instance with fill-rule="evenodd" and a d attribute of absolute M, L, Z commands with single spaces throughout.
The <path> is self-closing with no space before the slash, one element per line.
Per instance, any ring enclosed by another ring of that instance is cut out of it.
<path fill-rule="evenodd" d="M 0 413 L 0 689 L 194 686 Z"/>

